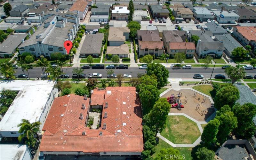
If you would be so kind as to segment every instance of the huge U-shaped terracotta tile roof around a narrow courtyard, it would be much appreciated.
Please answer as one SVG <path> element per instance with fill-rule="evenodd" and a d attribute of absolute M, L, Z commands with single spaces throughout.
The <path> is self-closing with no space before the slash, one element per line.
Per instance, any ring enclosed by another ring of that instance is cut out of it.
<path fill-rule="evenodd" d="M 103 91 L 98 89 L 93 91 L 96 96 L 101 96 L 102 93 Z M 55 116 L 53 117 L 53 115 L 60 112 L 60 107 L 62 106 L 59 106 L 59 104 L 71 104 L 66 107 L 66 110 L 69 110 L 69 112 L 72 110 L 73 112 L 73 110 L 81 109 L 80 103 L 85 100 L 82 96 L 72 94 L 69 100 L 67 96 L 56 98 L 43 127 L 46 131 L 42 137 L 40 151 L 76 151 L 84 153 L 142 152 L 142 116 L 140 100 L 136 96 L 136 88 L 107 87 L 104 93 L 107 98 L 104 99 L 103 103 L 101 127 L 99 129 L 89 129 L 84 125 L 80 126 L 79 122 L 78 125 L 75 122 L 68 125 L 68 127 L 76 129 L 66 134 L 60 130 L 61 127 L 66 127 L 63 125 L 65 122 L 56 119 Z M 87 101 L 89 101 L 89 98 Z M 77 102 L 78 104 L 75 105 Z M 105 108 L 106 102 L 108 102 L 108 108 Z M 105 112 L 107 112 L 107 118 L 103 118 Z M 79 119 L 75 117 L 80 115 L 80 110 L 76 113 L 76 115 L 73 115 L 73 119 Z M 69 116 L 68 118 L 72 119 Z M 65 117 L 65 120 L 70 121 L 68 118 Z M 106 129 L 102 128 L 104 123 L 106 123 Z M 58 126 L 55 127 L 57 124 Z M 85 132 L 85 135 L 82 135 L 83 132 Z M 99 135 L 100 132 L 102 135 Z"/>

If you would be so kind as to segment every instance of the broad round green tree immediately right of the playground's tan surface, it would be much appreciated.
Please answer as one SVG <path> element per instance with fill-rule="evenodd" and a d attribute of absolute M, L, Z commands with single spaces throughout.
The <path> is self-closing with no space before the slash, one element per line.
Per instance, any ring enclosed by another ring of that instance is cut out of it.
<path fill-rule="evenodd" d="M 239 91 L 235 86 L 222 87 L 214 98 L 214 107 L 220 109 L 224 105 L 233 107 L 236 100 L 239 99 Z"/>

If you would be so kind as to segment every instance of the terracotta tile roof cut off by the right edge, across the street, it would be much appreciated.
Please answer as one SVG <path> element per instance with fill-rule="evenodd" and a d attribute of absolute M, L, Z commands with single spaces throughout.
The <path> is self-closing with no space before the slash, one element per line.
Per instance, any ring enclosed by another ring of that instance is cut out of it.
<path fill-rule="evenodd" d="M 241 33 L 248 41 L 256 41 L 256 28 L 255 27 L 242 27 L 237 26 L 237 32 Z"/>

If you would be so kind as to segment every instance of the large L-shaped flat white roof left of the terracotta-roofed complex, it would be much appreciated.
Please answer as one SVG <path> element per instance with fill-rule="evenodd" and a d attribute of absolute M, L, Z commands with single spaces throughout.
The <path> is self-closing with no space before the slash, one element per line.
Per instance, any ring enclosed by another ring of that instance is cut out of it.
<path fill-rule="evenodd" d="M 1 81 L 1 90 L 19 93 L 0 122 L 0 131 L 19 131 L 17 125 L 21 119 L 28 119 L 30 123 L 38 121 L 54 84 L 55 81 L 50 80 Z"/>

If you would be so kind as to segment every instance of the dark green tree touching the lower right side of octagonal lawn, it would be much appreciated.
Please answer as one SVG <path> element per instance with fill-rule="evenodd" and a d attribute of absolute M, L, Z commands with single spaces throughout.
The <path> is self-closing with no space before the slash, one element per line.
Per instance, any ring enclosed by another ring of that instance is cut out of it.
<path fill-rule="evenodd" d="M 213 119 L 204 127 L 204 131 L 201 136 L 201 140 L 204 142 L 206 147 L 215 143 L 217 138 L 217 133 L 219 132 L 220 121 L 218 119 Z"/>

